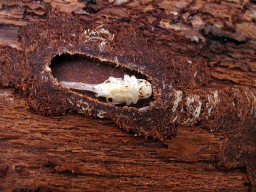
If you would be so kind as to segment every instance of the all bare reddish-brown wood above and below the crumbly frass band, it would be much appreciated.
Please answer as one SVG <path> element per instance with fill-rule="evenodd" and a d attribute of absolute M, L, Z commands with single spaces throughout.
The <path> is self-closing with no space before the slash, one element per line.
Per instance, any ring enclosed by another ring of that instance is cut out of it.
<path fill-rule="evenodd" d="M 232 140 L 225 132 L 178 126 L 175 138 L 161 142 L 127 133 L 108 120 L 75 113 L 46 117 L 30 109 L 23 80 L 4 76 L 11 73 L 6 53 L 22 52 L 20 27 L 44 23 L 52 12 L 122 25 L 124 34 L 133 27 L 180 58 L 195 60 L 200 54 L 212 67 L 212 86 L 255 93 L 254 0 L 0 0 L 1 191 L 256 190 L 255 131 L 245 130 L 241 138 L 252 142 L 240 140 L 235 152 L 241 153 L 230 160 L 218 155 Z M 234 147 L 236 140 L 230 143 Z"/>

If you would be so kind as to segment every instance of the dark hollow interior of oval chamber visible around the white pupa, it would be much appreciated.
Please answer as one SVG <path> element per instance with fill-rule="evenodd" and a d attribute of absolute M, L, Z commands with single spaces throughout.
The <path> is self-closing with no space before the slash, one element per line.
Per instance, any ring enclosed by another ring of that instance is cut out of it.
<path fill-rule="evenodd" d="M 109 78 L 109 76 L 114 77 L 124 77 L 125 74 L 136 78 L 145 79 L 147 77 L 142 75 L 137 71 L 131 69 L 116 66 L 115 63 L 100 61 L 99 59 L 82 55 L 82 54 L 61 54 L 54 57 L 50 65 L 52 75 L 57 79 L 58 82 L 70 81 L 70 82 L 82 82 L 87 84 L 100 84 Z M 82 95 L 89 96 L 93 99 L 97 99 L 101 102 L 105 102 L 104 97 L 95 97 L 95 93 L 88 91 L 78 91 Z M 152 94 L 153 95 L 153 94 Z M 153 96 L 139 100 L 136 104 L 131 104 L 129 107 L 142 108 L 149 106 L 150 101 L 153 100 Z M 117 105 L 119 107 L 125 106 L 124 104 Z"/>

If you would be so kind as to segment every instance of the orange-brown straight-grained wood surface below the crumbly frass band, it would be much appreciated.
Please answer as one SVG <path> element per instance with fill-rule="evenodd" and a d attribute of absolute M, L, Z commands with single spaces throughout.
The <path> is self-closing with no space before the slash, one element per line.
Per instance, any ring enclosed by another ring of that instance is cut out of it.
<path fill-rule="evenodd" d="M 179 127 L 173 142 L 164 144 L 135 137 L 106 120 L 36 115 L 13 89 L 1 89 L 0 96 L 1 190 L 249 188 L 244 169 L 216 167 L 220 133 Z"/>

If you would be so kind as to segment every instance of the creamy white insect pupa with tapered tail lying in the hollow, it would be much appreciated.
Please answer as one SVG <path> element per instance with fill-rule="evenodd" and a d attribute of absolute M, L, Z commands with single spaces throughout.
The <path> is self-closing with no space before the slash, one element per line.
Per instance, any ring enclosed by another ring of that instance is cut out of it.
<path fill-rule="evenodd" d="M 61 81 L 60 84 L 71 89 L 95 92 L 96 97 L 106 97 L 107 102 L 114 105 L 136 104 L 139 99 L 146 99 L 152 94 L 151 84 L 148 81 L 129 75 L 124 75 L 124 78 L 111 76 L 101 84 L 67 81 Z"/>

